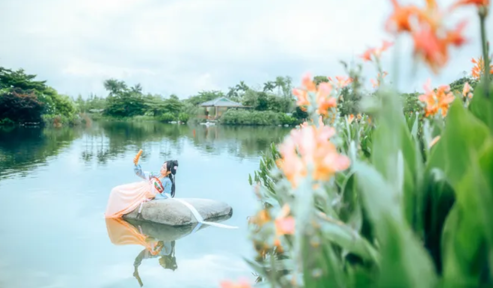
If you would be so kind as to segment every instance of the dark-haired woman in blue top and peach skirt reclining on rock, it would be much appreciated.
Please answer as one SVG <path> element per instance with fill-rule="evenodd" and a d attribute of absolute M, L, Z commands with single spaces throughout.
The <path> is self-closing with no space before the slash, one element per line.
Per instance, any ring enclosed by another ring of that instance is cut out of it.
<path fill-rule="evenodd" d="M 178 161 L 171 160 L 162 164 L 159 174 L 142 172 L 138 164 L 142 150 L 137 153 L 133 163 L 134 172 L 144 181 L 116 186 L 111 190 L 106 218 L 120 218 L 137 208 L 141 203 L 154 198 L 175 197 L 175 175 Z"/>

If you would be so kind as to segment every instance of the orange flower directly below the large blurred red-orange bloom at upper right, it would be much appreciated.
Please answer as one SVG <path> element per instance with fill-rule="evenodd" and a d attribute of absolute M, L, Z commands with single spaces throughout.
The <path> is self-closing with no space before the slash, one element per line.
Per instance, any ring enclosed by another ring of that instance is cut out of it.
<path fill-rule="evenodd" d="M 433 91 L 431 89 L 431 81 L 428 80 L 424 88 L 425 94 L 420 95 L 419 100 L 426 104 L 425 117 L 434 116 L 439 111 L 442 112 L 442 117 L 445 117 L 450 103 L 454 101 L 454 94 L 450 92 L 450 86 L 440 86 L 436 91 Z"/>

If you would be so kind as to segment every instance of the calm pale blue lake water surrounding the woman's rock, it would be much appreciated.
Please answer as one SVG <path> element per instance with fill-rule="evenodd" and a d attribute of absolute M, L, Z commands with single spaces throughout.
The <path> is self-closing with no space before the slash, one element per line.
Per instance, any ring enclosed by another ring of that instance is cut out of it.
<path fill-rule="evenodd" d="M 233 216 L 224 223 L 239 227 L 192 234 L 143 227 L 148 238 L 178 237 L 178 268 L 163 268 L 159 257 L 144 259 L 138 268 L 143 286 L 218 287 L 225 278 L 253 279 L 242 259 L 253 254 L 246 224 L 257 207 L 248 174 L 288 131 L 152 122 L 0 128 L 0 287 L 139 287 L 134 260 L 144 247 L 112 243 L 104 219 L 111 188 L 139 180 L 132 169 L 139 149 L 145 170 L 178 159 L 177 197 L 225 201 Z"/>

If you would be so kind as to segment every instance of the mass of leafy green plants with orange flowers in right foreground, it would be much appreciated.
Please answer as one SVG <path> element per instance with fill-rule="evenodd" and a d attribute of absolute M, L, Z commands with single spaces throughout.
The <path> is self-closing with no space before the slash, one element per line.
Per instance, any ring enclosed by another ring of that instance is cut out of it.
<path fill-rule="evenodd" d="M 396 4 L 390 23 L 398 32 L 426 26 L 430 18 L 419 16 L 438 9 L 434 1 L 427 4 L 424 10 Z M 484 31 L 487 6 L 476 5 Z M 406 17 L 419 21 L 404 25 L 410 23 Z M 438 71 L 446 63 L 446 50 L 424 44 L 460 46 L 459 28 L 427 35 L 424 42 L 415 39 L 416 53 L 424 53 L 427 64 Z M 483 55 L 488 55 L 482 35 Z M 398 94 L 381 76 L 379 58 L 388 47 L 384 43 L 363 54 L 376 62 L 380 73 L 365 115 L 340 117 L 334 100 L 340 94 L 338 83 L 317 85 L 305 77 L 302 89 L 296 90 L 298 105 L 311 122 L 293 129 L 279 147 L 272 145 L 250 177 L 262 207 L 250 220 L 258 256 L 247 261 L 259 285 L 493 284 L 489 59 L 483 57 L 483 64 L 473 68 L 473 77 L 480 79 L 473 91 L 469 84 L 457 94 L 449 86 L 432 90 L 427 85 L 419 97 L 423 111 L 405 115 Z M 351 82 L 342 80 L 344 85 Z M 222 287 L 250 284 L 224 281 Z"/>

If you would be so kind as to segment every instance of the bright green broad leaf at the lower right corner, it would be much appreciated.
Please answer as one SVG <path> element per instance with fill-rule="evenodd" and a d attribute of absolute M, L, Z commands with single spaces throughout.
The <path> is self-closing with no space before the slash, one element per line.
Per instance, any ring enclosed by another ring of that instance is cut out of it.
<path fill-rule="evenodd" d="M 444 228 L 444 276 L 449 283 L 478 286 L 493 248 L 493 139 L 471 156 Z"/>

